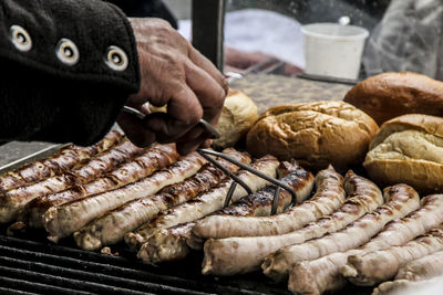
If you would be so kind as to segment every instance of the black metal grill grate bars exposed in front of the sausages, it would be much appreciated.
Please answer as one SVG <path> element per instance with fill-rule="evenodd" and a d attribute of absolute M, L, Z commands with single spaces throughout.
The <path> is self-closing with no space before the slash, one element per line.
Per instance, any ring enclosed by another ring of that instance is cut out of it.
<path fill-rule="evenodd" d="M 0 235 L 0 293 L 16 294 L 288 294 L 259 274 L 216 278 L 199 273 L 202 256 L 162 267 L 134 253 L 86 252 Z M 134 257 L 131 260 L 130 257 Z"/>

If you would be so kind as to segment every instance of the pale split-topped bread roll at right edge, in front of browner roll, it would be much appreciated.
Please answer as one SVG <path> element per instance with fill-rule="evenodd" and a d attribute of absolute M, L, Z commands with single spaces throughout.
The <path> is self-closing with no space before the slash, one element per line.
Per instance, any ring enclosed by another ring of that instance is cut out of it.
<path fill-rule="evenodd" d="M 363 166 L 381 186 L 403 182 L 421 193 L 442 191 L 443 118 L 409 114 L 385 122 Z"/>

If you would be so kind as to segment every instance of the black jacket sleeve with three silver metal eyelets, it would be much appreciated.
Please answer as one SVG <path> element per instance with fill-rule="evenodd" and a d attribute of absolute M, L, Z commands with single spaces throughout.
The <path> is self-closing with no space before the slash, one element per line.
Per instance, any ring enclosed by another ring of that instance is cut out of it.
<path fill-rule="evenodd" d="M 100 0 L 0 1 L 0 141 L 90 145 L 140 87 L 124 13 Z"/>

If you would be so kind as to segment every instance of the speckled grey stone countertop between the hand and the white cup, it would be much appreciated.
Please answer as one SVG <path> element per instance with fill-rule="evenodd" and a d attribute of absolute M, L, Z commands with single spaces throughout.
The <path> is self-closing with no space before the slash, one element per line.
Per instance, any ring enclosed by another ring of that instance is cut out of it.
<path fill-rule="evenodd" d="M 248 95 L 257 104 L 258 113 L 261 114 L 277 105 L 341 101 L 352 85 L 279 75 L 249 74 L 233 81 L 229 87 Z"/>

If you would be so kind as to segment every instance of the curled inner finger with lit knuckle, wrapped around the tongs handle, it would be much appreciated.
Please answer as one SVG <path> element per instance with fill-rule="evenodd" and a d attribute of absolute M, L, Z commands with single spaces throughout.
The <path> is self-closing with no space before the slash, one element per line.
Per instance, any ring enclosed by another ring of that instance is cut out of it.
<path fill-rule="evenodd" d="M 202 118 L 203 108 L 194 92 L 183 86 L 167 104 L 167 114 L 154 113 L 145 118 L 145 126 L 156 134 L 159 143 L 173 143 L 189 131 Z"/>

